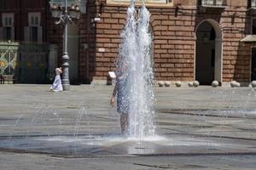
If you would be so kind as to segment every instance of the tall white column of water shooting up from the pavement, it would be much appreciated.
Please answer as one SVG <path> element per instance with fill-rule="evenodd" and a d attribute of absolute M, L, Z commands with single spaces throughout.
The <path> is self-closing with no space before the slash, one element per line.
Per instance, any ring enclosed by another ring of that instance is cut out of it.
<path fill-rule="evenodd" d="M 128 135 L 144 139 L 154 136 L 154 74 L 151 67 L 152 38 L 149 32 L 148 9 L 143 5 L 136 10 L 131 1 L 119 46 L 117 68 L 125 69 L 129 123 Z"/>

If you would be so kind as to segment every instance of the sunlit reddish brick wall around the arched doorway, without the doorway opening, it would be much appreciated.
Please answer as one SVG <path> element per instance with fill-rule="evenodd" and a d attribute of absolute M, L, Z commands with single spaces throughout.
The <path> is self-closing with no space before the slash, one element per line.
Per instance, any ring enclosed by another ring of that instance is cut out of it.
<path fill-rule="evenodd" d="M 223 82 L 250 81 L 250 49 L 240 40 L 250 27 L 247 3 L 228 1 L 224 10 L 199 11 L 196 1 L 175 1 L 173 7 L 148 6 L 154 31 L 154 76 L 156 80 L 195 79 L 195 31 L 203 20 L 219 23 L 223 33 Z M 236 5 L 235 5 L 236 4 Z M 233 6 L 235 5 L 235 6 Z M 127 5 L 102 3 L 101 20 L 96 23 L 95 79 L 106 79 L 114 70 L 119 34 L 125 25 Z M 247 26 L 248 25 L 248 26 Z M 99 52 L 104 48 L 104 52 Z M 202 49 L 203 50 L 203 49 Z"/>

